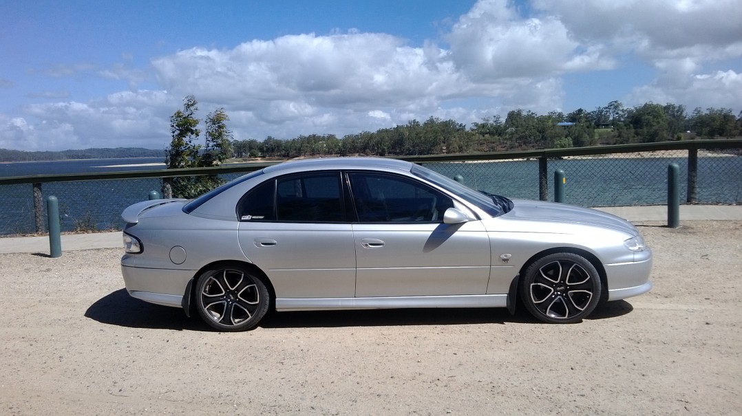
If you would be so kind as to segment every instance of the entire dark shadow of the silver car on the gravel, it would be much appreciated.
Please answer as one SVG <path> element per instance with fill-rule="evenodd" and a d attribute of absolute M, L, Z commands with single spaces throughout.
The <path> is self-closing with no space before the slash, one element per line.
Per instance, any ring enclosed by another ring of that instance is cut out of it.
<path fill-rule="evenodd" d="M 601 303 L 588 320 L 628 314 L 633 310 L 624 300 Z M 214 331 L 199 317 L 186 317 L 180 308 L 153 305 L 119 289 L 93 303 L 85 317 L 108 325 L 174 331 Z M 505 308 L 424 308 L 369 309 L 363 311 L 269 311 L 262 328 L 341 328 L 346 326 L 431 326 L 495 323 L 537 324 L 525 308 L 511 315 Z"/>

